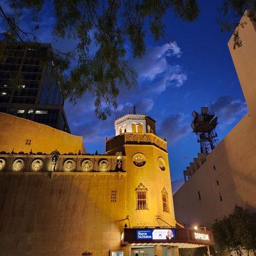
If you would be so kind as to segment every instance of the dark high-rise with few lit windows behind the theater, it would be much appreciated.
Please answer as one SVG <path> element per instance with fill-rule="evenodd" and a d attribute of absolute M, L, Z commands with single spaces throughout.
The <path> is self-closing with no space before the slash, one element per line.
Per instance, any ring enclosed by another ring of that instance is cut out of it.
<path fill-rule="evenodd" d="M 0 112 L 70 132 L 51 44 L 12 42 L 0 62 Z"/>

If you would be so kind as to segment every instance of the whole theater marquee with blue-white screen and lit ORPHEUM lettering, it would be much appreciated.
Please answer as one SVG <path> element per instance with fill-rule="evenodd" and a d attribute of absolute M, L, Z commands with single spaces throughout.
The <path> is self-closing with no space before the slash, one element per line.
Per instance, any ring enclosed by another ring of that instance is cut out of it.
<path fill-rule="evenodd" d="M 175 243 L 208 246 L 214 244 L 213 234 L 209 231 L 191 228 L 125 228 L 122 244 L 157 244 Z M 179 246 L 179 247 L 180 247 Z M 182 248 L 182 247 L 180 247 Z M 188 246 L 187 246 L 188 248 Z"/>

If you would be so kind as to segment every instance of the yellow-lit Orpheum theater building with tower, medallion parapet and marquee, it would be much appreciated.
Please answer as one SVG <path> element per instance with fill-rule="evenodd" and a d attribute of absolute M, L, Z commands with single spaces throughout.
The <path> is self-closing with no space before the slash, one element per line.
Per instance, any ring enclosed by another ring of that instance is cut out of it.
<path fill-rule="evenodd" d="M 213 244 L 173 211 L 166 141 L 147 115 L 115 120 L 102 155 L 0 113 L 0 255 L 179 255 Z"/>

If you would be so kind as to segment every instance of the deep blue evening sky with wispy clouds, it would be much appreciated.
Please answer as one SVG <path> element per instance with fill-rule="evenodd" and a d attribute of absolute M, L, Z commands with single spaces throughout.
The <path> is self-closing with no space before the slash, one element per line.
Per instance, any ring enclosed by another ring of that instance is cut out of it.
<path fill-rule="evenodd" d="M 164 17 L 169 38 L 155 42 L 146 38 L 147 52 L 140 60 L 127 59 L 138 72 L 138 86 L 121 90 L 118 108 L 106 121 L 97 120 L 92 95 L 86 94 L 77 104 L 65 103 L 68 124 L 73 134 L 82 135 L 86 152 L 104 152 L 106 137 L 115 135 L 114 120 L 132 113 L 145 113 L 156 120 L 157 135 L 166 138 L 174 190 L 183 181 L 183 170 L 200 151 L 191 131 L 191 113 L 202 106 L 212 106 L 219 117 L 216 128 L 221 141 L 247 111 L 243 92 L 227 47 L 231 33 L 221 33 L 216 10 L 222 1 L 198 1 L 200 16 L 196 22 L 183 22 L 172 13 Z M 6 10 L 8 12 L 8 10 Z M 41 42 L 51 43 L 60 51 L 74 48 L 73 40 L 51 35 L 54 13 L 50 3 L 40 13 Z M 22 28 L 28 27 L 24 16 Z M 172 40 L 172 44 L 168 44 Z M 75 65 L 75 63 L 74 63 Z"/>

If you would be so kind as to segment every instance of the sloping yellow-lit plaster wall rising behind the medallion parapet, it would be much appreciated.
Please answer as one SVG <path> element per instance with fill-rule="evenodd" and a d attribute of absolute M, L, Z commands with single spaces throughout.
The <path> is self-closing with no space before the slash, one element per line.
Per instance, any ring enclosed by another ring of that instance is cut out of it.
<path fill-rule="evenodd" d="M 31 145 L 26 145 L 31 140 Z M 0 151 L 43 152 L 50 154 L 58 150 L 61 154 L 68 152 L 84 153 L 83 137 L 54 129 L 44 124 L 0 113 Z"/>

